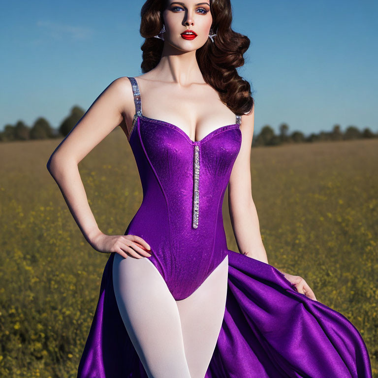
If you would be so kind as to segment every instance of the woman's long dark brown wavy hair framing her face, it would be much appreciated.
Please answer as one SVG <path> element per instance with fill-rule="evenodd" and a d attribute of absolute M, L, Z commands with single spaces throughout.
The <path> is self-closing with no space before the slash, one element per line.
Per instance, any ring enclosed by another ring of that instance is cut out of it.
<path fill-rule="evenodd" d="M 163 11 L 167 0 L 147 0 L 141 9 L 140 34 L 145 38 L 141 46 L 142 72 L 155 68 L 161 58 L 164 41 L 154 38 L 163 27 Z M 239 76 L 236 68 L 244 64 L 244 53 L 250 39 L 231 29 L 232 8 L 230 0 L 210 0 L 213 17 L 211 29 L 217 34 L 214 43 L 207 42 L 196 50 L 199 69 L 206 83 L 218 91 L 221 101 L 236 115 L 252 111 L 254 100 L 251 85 Z"/>

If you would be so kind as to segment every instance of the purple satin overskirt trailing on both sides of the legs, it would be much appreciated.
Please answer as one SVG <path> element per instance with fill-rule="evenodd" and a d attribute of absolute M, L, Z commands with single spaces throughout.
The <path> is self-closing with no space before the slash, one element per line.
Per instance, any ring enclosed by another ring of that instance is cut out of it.
<path fill-rule="evenodd" d="M 372 378 L 362 336 L 344 315 L 298 293 L 272 265 L 227 253 L 226 309 L 205 378 Z M 78 377 L 148 378 L 117 307 L 113 259 Z"/>

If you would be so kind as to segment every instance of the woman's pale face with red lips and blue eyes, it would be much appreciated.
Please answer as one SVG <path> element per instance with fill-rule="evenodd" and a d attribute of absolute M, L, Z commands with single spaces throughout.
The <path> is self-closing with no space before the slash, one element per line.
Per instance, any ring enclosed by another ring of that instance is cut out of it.
<path fill-rule="evenodd" d="M 197 50 L 209 38 L 213 22 L 210 0 L 168 0 L 163 19 L 165 42 L 182 51 Z M 184 34 L 189 30 L 194 34 Z"/>

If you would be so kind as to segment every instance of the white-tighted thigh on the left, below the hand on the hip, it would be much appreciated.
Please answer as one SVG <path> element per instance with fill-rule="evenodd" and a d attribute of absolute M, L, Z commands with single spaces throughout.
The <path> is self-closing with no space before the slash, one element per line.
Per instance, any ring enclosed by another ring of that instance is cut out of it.
<path fill-rule="evenodd" d="M 148 257 L 113 261 L 117 305 L 149 378 L 190 378 L 180 315 L 164 279 Z"/>

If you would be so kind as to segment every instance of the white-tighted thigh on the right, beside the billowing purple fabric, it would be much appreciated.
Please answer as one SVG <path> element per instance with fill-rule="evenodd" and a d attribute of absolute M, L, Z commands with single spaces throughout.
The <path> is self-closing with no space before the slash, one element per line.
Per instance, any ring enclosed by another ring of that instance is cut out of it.
<path fill-rule="evenodd" d="M 203 378 L 217 344 L 227 295 L 228 256 L 189 297 L 176 301 L 191 378 Z"/>

